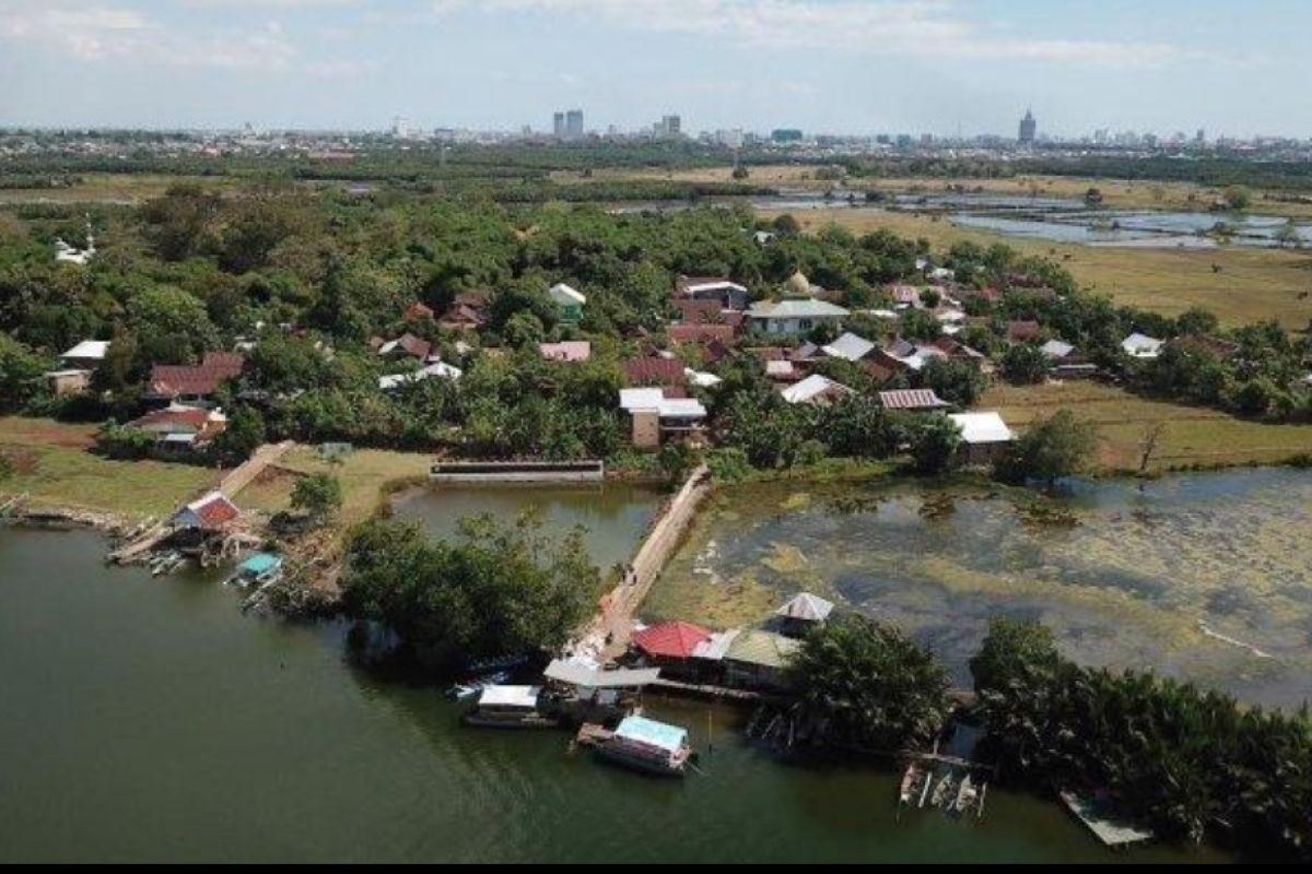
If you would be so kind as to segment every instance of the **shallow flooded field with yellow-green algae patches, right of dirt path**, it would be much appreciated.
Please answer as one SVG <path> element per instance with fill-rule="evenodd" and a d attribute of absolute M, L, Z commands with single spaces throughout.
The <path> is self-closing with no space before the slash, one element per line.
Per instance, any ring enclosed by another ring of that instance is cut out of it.
<path fill-rule="evenodd" d="M 1152 667 L 1246 701 L 1312 698 L 1312 473 L 1078 484 L 724 490 L 649 617 L 762 618 L 798 590 L 897 622 L 968 684 L 996 613 L 1048 624 L 1086 664 Z"/>

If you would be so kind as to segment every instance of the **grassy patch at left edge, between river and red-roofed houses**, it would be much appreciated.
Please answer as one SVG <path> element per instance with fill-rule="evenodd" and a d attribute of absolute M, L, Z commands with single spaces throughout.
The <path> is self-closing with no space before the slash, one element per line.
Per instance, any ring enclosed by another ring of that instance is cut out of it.
<path fill-rule="evenodd" d="M 0 494 L 136 519 L 163 516 L 219 481 L 218 470 L 188 464 L 104 459 L 89 452 L 93 435 L 91 425 L 0 418 L 0 451 L 14 464 Z"/>

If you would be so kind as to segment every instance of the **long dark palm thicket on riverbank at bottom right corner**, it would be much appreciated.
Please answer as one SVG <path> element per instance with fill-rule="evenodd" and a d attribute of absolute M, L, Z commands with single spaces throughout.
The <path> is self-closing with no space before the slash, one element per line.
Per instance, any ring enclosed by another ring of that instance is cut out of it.
<path fill-rule="evenodd" d="M 997 618 L 971 662 L 988 740 L 1013 778 L 1107 789 L 1172 837 L 1231 831 L 1312 850 L 1312 718 L 1241 708 L 1151 674 L 1060 656 L 1052 634 Z"/>

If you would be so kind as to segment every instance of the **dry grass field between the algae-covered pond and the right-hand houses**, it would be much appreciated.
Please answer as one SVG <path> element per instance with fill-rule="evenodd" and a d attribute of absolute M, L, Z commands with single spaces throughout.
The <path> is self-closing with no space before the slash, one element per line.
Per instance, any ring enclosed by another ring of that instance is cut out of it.
<path fill-rule="evenodd" d="M 1312 426 L 1236 419 L 1206 408 L 1153 401 L 1099 383 L 996 385 L 980 409 L 998 410 L 1023 430 L 1036 418 L 1069 409 L 1098 427 L 1101 470 L 1138 470 L 1148 431 L 1162 427 L 1152 456 L 1153 472 L 1194 465 L 1277 464 L 1312 452 Z"/>

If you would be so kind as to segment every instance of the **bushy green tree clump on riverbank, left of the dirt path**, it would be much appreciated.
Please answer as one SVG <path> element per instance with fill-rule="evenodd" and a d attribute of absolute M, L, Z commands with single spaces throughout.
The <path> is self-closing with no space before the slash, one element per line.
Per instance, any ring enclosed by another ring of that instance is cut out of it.
<path fill-rule="evenodd" d="M 552 541 L 539 528 L 531 516 L 476 516 L 458 540 L 432 542 L 417 523 L 367 522 L 348 544 L 344 608 L 434 664 L 559 650 L 601 577 L 580 531 Z"/>

